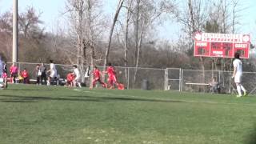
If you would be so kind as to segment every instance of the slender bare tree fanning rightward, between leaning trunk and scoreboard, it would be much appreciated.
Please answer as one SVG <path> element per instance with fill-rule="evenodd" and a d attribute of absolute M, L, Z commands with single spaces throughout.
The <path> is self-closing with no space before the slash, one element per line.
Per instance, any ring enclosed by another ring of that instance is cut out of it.
<path fill-rule="evenodd" d="M 138 66 L 142 43 L 146 37 L 146 31 L 154 27 L 154 22 L 162 16 L 162 14 L 174 14 L 174 5 L 171 1 L 144 1 L 136 0 L 134 10 L 134 41 L 135 41 L 135 71 L 133 86 L 135 86 L 138 74 Z"/>

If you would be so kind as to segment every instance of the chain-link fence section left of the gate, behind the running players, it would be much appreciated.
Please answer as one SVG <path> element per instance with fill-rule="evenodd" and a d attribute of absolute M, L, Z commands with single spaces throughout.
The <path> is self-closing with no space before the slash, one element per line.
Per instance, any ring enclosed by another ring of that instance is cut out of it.
<path fill-rule="evenodd" d="M 10 68 L 12 63 L 8 63 L 7 67 Z M 30 79 L 36 79 L 36 66 L 38 63 L 26 63 L 18 62 L 19 73 L 22 70 L 26 69 L 30 75 Z M 49 70 L 49 64 L 45 64 L 46 69 Z M 66 74 L 72 71 L 72 65 L 59 65 L 56 64 L 56 69 L 59 75 L 59 78 L 66 78 Z M 88 66 L 86 66 L 88 67 Z M 98 66 L 100 70 L 103 71 L 102 66 Z M 92 68 L 90 68 L 92 69 Z M 125 84 L 127 89 L 141 89 L 142 82 L 145 80 L 148 82 L 147 85 L 151 90 L 164 90 L 166 82 L 166 69 L 152 69 L 152 68 L 134 68 L 134 67 L 122 67 L 115 66 L 117 72 L 118 82 Z M 93 70 L 90 70 L 92 72 Z M 137 71 L 137 72 L 136 72 Z M 136 77 L 134 77 L 136 73 Z M 8 74 L 10 75 L 10 74 Z M 91 74 L 90 74 L 91 75 Z M 90 78 L 85 78 L 85 83 L 87 86 L 90 84 Z"/>

